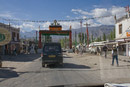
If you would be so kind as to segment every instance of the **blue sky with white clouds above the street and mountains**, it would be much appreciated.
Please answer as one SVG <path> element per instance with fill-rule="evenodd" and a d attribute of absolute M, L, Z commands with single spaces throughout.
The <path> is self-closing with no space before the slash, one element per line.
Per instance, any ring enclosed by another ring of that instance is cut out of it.
<path fill-rule="evenodd" d="M 130 0 L 0 0 L 0 17 L 10 19 L 28 20 L 66 20 L 75 18 L 86 18 L 94 16 L 117 15 L 125 13 L 125 6 L 130 5 Z M 106 19 L 104 19 L 106 20 Z M 94 25 L 104 24 L 103 19 L 88 20 Z M 106 24 L 112 25 L 112 18 L 107 18 Z M 0 20 L 1 22 L 6 22 Z M 18 23 L 12 24 L 32 30 L 41 25 L 47 27 L 50 22 L 44 24 Z M 78 22 L 63 22 L 64 28 L 71 24 L 78 28 Z"/>

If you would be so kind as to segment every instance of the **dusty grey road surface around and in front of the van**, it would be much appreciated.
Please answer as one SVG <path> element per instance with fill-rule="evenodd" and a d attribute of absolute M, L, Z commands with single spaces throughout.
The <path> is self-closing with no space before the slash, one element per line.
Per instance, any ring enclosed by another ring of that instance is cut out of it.
<path fill-rule="evenodd" d="M 21 63 L 20 68 L 2 68 L 0 71 L 0 87 L 57 87 L 62 85 L 71 87 L 103 85 L 105 82 L 130 82 L 130 75 L 127 75 L 130 72 L 128 66 L 111 66 L 110 59 L 104 59 L 100 56 L 85 55 L 80 56 L 80 58 L 76 58 L 76 56 L 65 56 L 63 67 L 49 66 L 48 68 L 42 68 L 39 56 L 29 55 L 26 57 L 29 58 L 31 56 L 34 58 L 28 61 L 22 61 L 22 63 L 17 60 Z M 93 64 L 89 63 L 90 60 L 92 60 L 91 63 Z M 120 61 L 120 64 L 124 63 Z"/>

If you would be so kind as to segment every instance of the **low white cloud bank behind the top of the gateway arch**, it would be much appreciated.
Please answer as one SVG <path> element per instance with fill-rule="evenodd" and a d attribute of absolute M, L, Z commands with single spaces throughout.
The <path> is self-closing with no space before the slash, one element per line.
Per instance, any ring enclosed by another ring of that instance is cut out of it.
<path fill-rule="evenodd" d="M 62 30 L 68 30 L 70 28 L 70 25 L 72 26 L 72 29 L 77 29 L 80 27 L 79 22 L 59 22 L 60 25 L 62 25 Z M 31 30 L 49 30 L 49 25 L 51 22 L 45 22 L 45 23 L 33 23 L 33 22 L 27 22 L 22 23 L 20 25 L 12 25 L 16 28 L 20 28 L 22 32 L 31 31 Z"/>

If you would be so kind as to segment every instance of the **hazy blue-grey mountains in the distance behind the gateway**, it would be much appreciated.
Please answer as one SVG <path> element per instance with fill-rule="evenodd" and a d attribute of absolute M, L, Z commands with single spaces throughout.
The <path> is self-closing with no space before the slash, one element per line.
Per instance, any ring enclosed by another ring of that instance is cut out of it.
<path fill-rule="evenodd" d="M 110 32 L 114 29 L 114 25 L 101 25 L 101 26 L 97 26 L 97 27 L 89 27 L 88 31 L 89 31 L 89 37 L 91 37 L 91 35 L 93 34 L 94 37 L 102 37 L 103 33 L 105 33 L 106 35 L 110 34 Z M 75 32 L 80 33 L 81 29 L 72 29 L 72 38 L 74 38 L 75 36 Z M 82 32 L 86 33 L 86 28 L 83 27 L 82 28 Z M 38 33 L 39 34 L 39 33 Z M 20 36 L 21 38 L 35 38 L 36 37 L 36 30 L 32 30 L 30 32 L 20 32 Z M 59 38 L 63 38 L 63 36 L 59 37 L 59 36 L 55 36 L 55 40 L 59 39 Z"/>

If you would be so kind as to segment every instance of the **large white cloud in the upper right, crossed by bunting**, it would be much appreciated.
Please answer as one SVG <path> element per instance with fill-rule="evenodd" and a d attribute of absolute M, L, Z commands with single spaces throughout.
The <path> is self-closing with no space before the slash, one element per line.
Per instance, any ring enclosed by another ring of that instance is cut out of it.
<path fill-rule="evenodd" d="M 96 5 L 94 5 L 97 7 Z M 106 18 L 100 18 L 100 19 L 95 19 L 92 21 L 94 25 L 114 25 L 114 15 L 117 16 L 117 18 L 122 17 L 125 15 L 125 8 L 124 7 L 117 7 L 117 6 L 112 6 L 111 8 L 95 8 L 90 10 L 90 12 L 84 11 L 82 9 L 72 9 L 72 12 L 76 12 L 80 15 L 80 17 L 76 18 L 87 18 L 87 17 L 102 17 L 102 16 L 111 16 L 111 17 L 106 17 Z M 96 23 L 98 22 L 98 23 Z M 100 23 L 100 24 L 99 24 Z"/>

